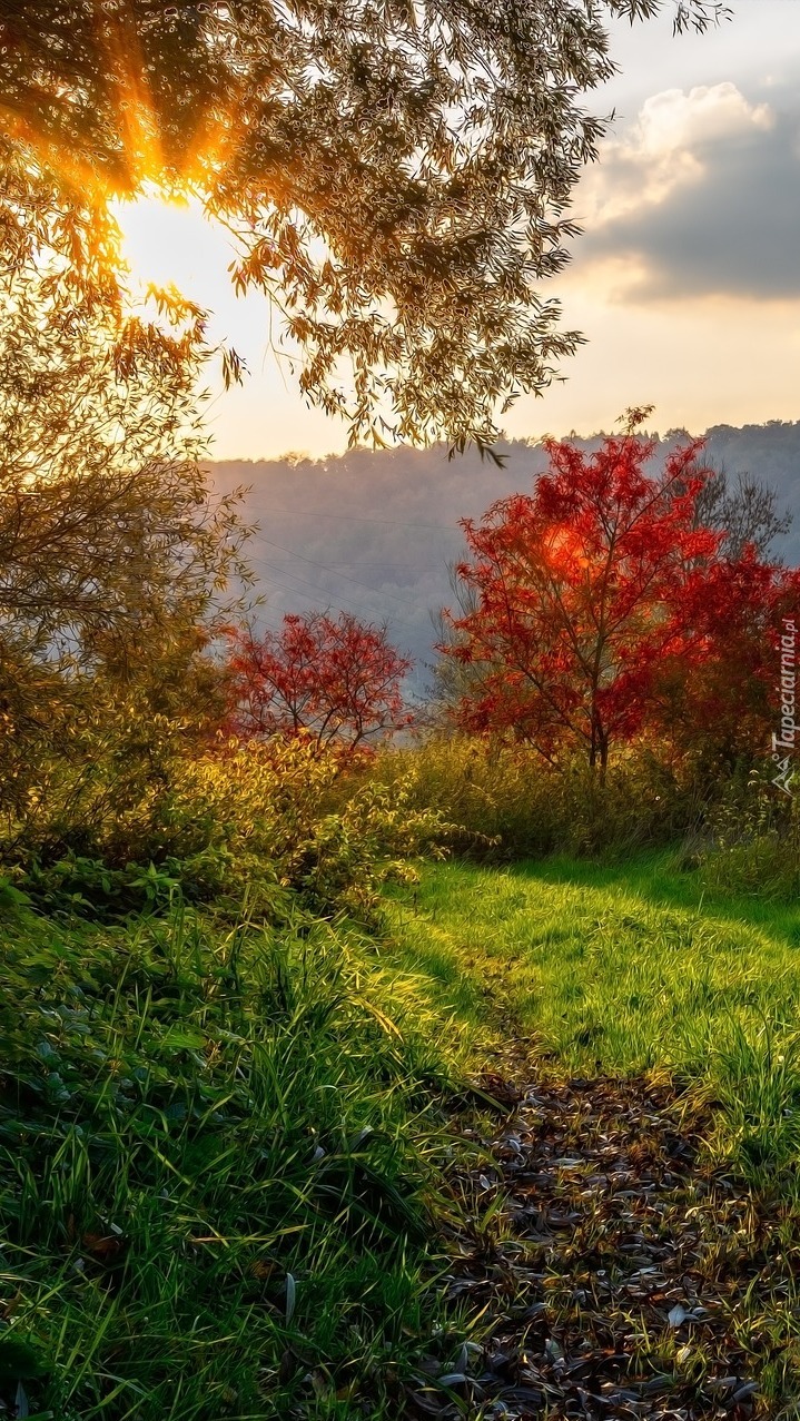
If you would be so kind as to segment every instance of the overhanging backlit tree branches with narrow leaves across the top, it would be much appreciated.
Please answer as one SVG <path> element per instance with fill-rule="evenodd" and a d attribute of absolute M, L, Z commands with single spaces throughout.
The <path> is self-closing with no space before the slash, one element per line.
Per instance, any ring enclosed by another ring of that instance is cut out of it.
<path fill-rule="evenodd" d="M 608 16 L 659 0 L 0 0 L 4 129 L 78 207 L 200 193 L 351 436 L 496 438 L 578 335 L 539 286 L 604 121 Z M 681 0 L 676 24 L 723 10 Z M 351 388 L 344 362 L 352 362 Z"/>

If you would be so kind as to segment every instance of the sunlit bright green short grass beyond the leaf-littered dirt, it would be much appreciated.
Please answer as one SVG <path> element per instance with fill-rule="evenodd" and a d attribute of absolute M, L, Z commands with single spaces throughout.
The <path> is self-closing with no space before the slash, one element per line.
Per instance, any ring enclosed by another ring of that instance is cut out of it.
<path fill-rule="evenodd" d="M 431 865 L 392 915 L 399 959 L 477 1049 L 669 1071 L 716 1104 L 716 1145 L 755 1181 L 800 1161 L 800 904 L 712 898 L 651 854 Z"/>

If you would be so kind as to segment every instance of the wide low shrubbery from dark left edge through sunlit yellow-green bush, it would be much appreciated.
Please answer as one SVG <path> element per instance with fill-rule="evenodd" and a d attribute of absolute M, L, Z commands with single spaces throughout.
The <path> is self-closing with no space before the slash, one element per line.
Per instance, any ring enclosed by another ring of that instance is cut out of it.
<path fill-rule="evenodd" d="M 7 845 L 6 861 L 50 911 L 108 919 L 162 909 L 180 894 L 277 922 L 298 895 L 318 915 L 369 925 L 381 884 L 412 875 L 423 850 L 440 851 L 448 826 L 412 803 L 408 779 L 389 790 L 354 779 L 348 764 L 310 740 L 175 755 L 138 804 L 115 814 L 104 800 L 91 830 L 82 809 L 74 826 L 40 813 L 36 833 L 28 826 Z"/>

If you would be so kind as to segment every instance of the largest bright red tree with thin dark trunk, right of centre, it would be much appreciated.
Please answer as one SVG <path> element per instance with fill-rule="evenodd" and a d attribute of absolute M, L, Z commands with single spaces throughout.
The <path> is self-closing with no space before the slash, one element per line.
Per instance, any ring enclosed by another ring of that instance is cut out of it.
<path fill-rule="evenodd" d="M 659 668 L 708 657 L 701 607 L 723 595 L 708 577 L 722 536 L 695 526 L 701 448 L 676 448 L 651 476 L 655 442 L 632 425 L 591 456 L 550 441 L 531 496 L 463 522 L 472 557 L 458 571 L 475 601 L 442 651 L 476 678 L 465 728 L 512 733 L 551 763 L 583 746 L 604 772 L 611 746 L 642 729 Z"/>

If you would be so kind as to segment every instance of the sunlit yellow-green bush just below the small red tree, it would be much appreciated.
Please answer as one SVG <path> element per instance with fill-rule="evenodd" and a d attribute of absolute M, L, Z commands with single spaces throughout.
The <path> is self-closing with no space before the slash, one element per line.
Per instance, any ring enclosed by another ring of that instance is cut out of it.
<path fill-rule="evenodd" d="M 436 851 L 446 826 L 391 791 L 354 779 L 335 747 L 310 740 L 232 742 L 225 753 L 185 762 L 155 826 L 161 858 L 180 860 L 205 894 L 264 880 L 298 891 L 315 912 L 369 919 L 377 890 L 408 875 L 409 860 Z M 203 881 L 205 880 L 205 881 Z"/>

